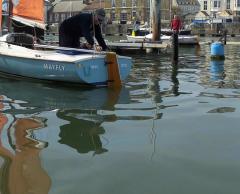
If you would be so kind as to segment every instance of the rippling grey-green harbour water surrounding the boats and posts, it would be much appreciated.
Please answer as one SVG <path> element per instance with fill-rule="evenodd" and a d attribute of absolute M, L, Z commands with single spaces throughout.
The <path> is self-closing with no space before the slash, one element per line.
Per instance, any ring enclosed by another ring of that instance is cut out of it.
<path fill-rule="evenodd" d="M 0 193 L 239 193 L 240 47 L 209 53 L 131 54 L 115 91 L 0 78 Z"/>

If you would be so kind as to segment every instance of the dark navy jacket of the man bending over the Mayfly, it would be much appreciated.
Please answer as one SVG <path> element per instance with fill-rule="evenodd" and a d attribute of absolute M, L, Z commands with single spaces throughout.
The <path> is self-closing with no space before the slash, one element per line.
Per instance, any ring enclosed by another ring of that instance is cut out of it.
<path fill-rule="evenodd" d="M 75 16 L 72 16 L 64 20 L 60 25 L 59 39 L 62 38 L 61 36 L 64 36 L 66 37 L 65 39 L 74 39 L 74 41 L 79 42 L 80 37 L 85 37 L 87 42 L 93 45 L 94 44 L 93 36 L 95 35 L 98 44 L 103 48 L 103 50 L 106 50 L 107 46 L 102 37 L 101 27 L 99 24 L 93 25 L 94 23 L 93 17 L 94 16 L 92 13 L 79 13 Z M 73 47 L 76 46 L 73 45 Z"/>

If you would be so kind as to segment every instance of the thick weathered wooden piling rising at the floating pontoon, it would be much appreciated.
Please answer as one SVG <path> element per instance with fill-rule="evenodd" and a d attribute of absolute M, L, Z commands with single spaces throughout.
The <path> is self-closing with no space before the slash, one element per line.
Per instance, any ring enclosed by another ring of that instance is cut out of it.
<path fill-rule="evenodd" d="M 159 41 L 160 40 L 160 34 L 161 34 L 161 0 L 152 0 L 152 31 L 153 41 Z"/>

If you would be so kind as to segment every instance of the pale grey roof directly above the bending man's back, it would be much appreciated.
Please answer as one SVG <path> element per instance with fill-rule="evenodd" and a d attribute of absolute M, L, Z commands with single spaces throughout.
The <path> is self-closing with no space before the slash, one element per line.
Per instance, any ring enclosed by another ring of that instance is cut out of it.
<path fill-rule="evenodd" d="M 61 12 L 80 12 L 86 7 L 82 1 L 79 0 L 72 0 L 72 1 L 61 1 L 57 3 L 54 8 L 54 13 L 61 13 Z"/>

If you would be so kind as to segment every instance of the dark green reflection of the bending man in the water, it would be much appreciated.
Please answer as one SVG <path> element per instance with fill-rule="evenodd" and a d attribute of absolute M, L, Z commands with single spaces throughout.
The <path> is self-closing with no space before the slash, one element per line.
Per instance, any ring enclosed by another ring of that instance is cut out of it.
<path fill-rule="evenodd" d="M 106 152 L 107 149 L 102 147 L 100 139 L 100 135 L 105 132 L 100 126 L 101 122 L 84 118 L 84 116 L 78 118 L 86 114 L 89 114 L 89 118 L 94 116 L 93 111 L 81 110 L 59 111 L 57 113 L 59 118 L 69 121 L 69 124 L 60 127 L 59 136 L 61 139 L 59 142 L 76 149 L 79 153 L 94 151 L 94 154 L 100 154 Z"/>

